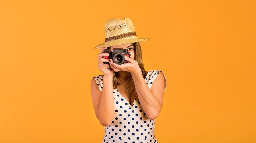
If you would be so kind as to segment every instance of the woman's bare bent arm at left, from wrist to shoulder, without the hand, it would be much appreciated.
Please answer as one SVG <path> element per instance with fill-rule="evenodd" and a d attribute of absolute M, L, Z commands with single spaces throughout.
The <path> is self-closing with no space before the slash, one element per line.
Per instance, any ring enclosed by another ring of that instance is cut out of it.
<path fill-rule="evenodd" d="M 91 93 L 96 117 L 100 121 L 100 124 L 109 126 L 114 117 L 113 76 L 104 75 L 103 79 L 104 86 L 102 91 L 99 91 L 96 82 L 92 82 Z"/>

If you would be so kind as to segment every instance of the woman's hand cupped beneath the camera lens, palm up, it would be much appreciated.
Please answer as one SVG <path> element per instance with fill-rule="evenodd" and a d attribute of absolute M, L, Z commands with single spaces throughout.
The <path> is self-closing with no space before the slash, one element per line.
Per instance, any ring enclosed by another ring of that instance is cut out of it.
<path fill-rule="evenodd" d="M 114 70 L 121 70 L 121 71 L 127 71 L 130 72 L 131 74 L 135 74 L 137 72 L 141 72 L 141 68 L 139 68 L 139 64 L 136 60 L 131 59 L 130 57 L 124 56 L 125 60 L 128 61 L 128 63 L 124 63 L 124 64 L 116 64 L 113 62 L 113 60 L 111 61 L 110 64 L 113 65 L 113 69 Z"/>

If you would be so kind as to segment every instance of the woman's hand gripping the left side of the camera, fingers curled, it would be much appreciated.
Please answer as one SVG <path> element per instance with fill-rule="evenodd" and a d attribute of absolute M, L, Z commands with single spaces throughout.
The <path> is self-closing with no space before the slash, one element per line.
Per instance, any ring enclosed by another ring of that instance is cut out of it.
<path fill-rule="evenodd" d="M 103 56 L 109 56 L 108 53 L 104 53 L 103 51 L 107 49 L 107 47 L 103 47 L 100 49 L 100 53 L 98 54 L 98 68 L 102 71 L 104 76 L 112 76 L 113 71 L 109 64 L 104 64 L 103 62 L 110 62 L 110 59 L 104 59 Z"/>

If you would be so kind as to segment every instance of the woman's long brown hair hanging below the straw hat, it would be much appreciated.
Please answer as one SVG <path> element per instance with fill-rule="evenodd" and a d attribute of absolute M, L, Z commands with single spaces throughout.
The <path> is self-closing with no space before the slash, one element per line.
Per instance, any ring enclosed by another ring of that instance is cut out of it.
<path fill-rule="evenodd" d="M 135 42 L 135 43 L 132 43 L 134 45 L 134 60 L 136 60 L 138 62 L 138 65 L 139 65 L 139 68 L 141 69 L 141 73 L 143 75 L 143 78 L 145 79 L 146 76 L 147 76 L 147 73 L 148 71 L 145 71 L 145 68 L 144 68 L 144 64 L 143 64 L 143 61 L 142 61 L 142 51 L 141 51 L 141 45 L 139 44 L 139 42 Z M 110 48 L 110 47 L 108 47 Z M 116 78 L 119 76 L 118 75 L 118 72 L 115 72 L 113 71 L 113 89 L 116 89 L 117 88 L 117 85 L 120 85 L 121 83 L 118 83 Z M 128 78 L 128 86 L 131 93 L 133 93 L 135 91 L 135 86 L 134 86 L 134 82 L 133 82 L 133 79 L 132 79 L 132 75 L 131 73 L 129 73 L 129 78 Z"/>

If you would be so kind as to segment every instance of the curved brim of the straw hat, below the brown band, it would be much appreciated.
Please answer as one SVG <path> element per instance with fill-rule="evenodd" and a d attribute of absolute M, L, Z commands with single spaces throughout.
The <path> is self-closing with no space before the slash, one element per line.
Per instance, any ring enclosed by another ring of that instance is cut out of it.
<path fill-rule="evenodd" d="M 99 44 L 93 49 L 98 49 L 98 48 L 103 48 L 103 47 L 110 47 L 110 46 L 127 44 L 127 43 L 135 43 L 135 42 L 140 42 L 140 41 L 147 41 L 149 39 L 151 39 L 151 38 L 117 39 L 117 40 L 112 40 L 112 41 L 109 41 L 109 42 L 106 42 L 106 43 Z"/>

